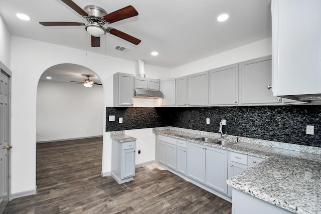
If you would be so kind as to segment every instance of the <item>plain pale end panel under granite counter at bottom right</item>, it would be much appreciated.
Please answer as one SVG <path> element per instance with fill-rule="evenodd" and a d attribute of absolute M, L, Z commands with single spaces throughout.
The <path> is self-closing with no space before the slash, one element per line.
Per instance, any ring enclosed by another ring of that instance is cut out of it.
<path fill-rule="evenodd" d="M 233 188 L 232 214 L 290 214 L 288 210 Z"/>

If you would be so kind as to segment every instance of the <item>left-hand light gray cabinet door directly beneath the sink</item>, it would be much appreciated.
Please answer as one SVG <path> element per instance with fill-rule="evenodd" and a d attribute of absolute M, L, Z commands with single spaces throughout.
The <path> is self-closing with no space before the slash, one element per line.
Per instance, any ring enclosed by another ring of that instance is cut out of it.
<path fill-rule="evenodd" d="M 188 143 L 187 147 L 187 176 L 205 183 L 205 146 Z"/>

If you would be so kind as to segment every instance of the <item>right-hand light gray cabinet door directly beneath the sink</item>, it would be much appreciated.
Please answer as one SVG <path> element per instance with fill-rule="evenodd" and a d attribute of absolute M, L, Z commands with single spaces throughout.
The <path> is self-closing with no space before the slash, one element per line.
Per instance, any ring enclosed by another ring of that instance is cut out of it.
<path fill-rule="evenodd" d="M 227 194 L 228 151 L 206 147 L 205 184 Z"/>

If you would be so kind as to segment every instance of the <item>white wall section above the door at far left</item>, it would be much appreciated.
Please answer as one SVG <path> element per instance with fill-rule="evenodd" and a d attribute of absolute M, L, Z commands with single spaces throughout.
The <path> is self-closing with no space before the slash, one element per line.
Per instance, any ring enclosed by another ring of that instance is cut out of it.
<path fill-rule="evenodd" d="M 0 61 L 10 69 L 11 34 L 0 15 Z"/>

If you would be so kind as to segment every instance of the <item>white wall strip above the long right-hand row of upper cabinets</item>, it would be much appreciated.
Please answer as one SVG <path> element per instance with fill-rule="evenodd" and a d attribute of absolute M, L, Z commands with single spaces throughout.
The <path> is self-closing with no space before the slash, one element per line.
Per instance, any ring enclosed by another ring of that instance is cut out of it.
<path fill-rule="evenodd" d="M 272 54 L 272 38 L 260 40 L 171 70 L 171 78 L 208 71 Z"/>

